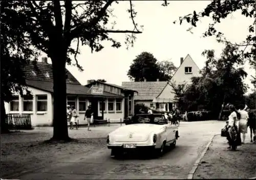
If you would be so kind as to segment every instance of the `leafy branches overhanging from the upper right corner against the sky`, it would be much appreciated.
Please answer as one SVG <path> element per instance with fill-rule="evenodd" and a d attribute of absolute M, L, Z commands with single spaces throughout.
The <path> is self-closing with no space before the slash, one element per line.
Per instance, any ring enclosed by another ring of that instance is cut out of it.
<path fill-rule="evenodd" d="M 255 0 L 217 0 L 211 1 L 211 3 L 201 12 L 194 11 L 191 14 L 180 17 L 180 24 L 183 21 L 191 24 L 189 31 L 193 27 L 197 27 L 198 21 L 203 17 L 210 16 L 214 21 L 212 24 L 209 24 L 209 27 L 206 32 L 203 33 L 204 37 L 207 36 L 216 36 L 219 42 L 227 42 L 234 46 L 240 48 L 240 55 L 243 57 L 240 60 L 248 59 L 250 64 L 256 68 L 256 36 L 255 36 L 255 25 L 256 25 L 256 11 L 255 11 Z M 240 11 L 242 15 L 246 16 L 251 20 L 249 27 L 244 27 L 248 29 L 248 35 L 242 43 L 231 42 L 225 38 L 225 35 L 218 31 L 215 27 L 217 24 L 221 23 L 222 19 L 228 17 L 228 15 L 233 12 Z M 174 21 L 175 23 L 176 21 Z"/>

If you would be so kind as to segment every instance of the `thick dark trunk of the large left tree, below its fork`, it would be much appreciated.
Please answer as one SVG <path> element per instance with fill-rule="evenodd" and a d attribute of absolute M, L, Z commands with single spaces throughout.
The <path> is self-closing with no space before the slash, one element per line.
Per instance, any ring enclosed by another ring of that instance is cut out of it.
<path fill-rule="evenodd" d="M 66 54 L 56 51 L 51 57 L 53 68 L 53 141 L 69 141 L 67 123 Z"/>

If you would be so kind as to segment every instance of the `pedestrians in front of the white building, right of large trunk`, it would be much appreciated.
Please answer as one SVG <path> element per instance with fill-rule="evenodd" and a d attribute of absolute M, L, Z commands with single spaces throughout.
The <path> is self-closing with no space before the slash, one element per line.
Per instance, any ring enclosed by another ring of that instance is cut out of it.
<path fill-rule="evenodd" d="M 77 110 L 75 109 L 75 106 L 67 105 L 67 120 L 70 123 L 70 129 L 74 129 L 74 124 L 76 129 L 78 129 L 78 117 L 79 116 Z M 86 110 L 83 120 L 87 120 L 88 131 L 91 131 L 90 124 L 93 123 L 93 111 L 91 105 L 88 106 L 88 109 Z"/>

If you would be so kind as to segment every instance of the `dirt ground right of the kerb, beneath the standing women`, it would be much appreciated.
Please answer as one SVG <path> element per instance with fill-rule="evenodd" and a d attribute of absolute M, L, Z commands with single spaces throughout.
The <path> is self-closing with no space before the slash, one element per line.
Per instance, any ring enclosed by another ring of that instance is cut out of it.
<path fill-rule="evenodd" d="M 225 137 L 216 136 L 201 160 L 194 178 L 251 178 L 256 176 L 256 144 L 245 144 L 236 151 L 227 149 Z"/>

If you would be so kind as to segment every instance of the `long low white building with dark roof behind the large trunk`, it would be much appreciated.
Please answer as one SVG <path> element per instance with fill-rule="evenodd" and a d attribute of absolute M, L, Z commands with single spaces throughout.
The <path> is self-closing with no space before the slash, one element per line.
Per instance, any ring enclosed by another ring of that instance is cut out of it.
<path fill-rule="evenodd" d="M 36 66 L 35 69 L 30 63 L 24 69 L 31 96 L 21 97 L 16 94 L 11 102 L 5 103 L 5 109 L 7 114 L 30 114 L 32 126 L 51 126 L 53 122 L 52 64 L 47 63 L 47 58 L 43 58 L 42 62 L 37 62 Z M 74 105 L 78 110 L 79 124 L 87 123 L 83 118 L 89 105 L 92 105 L 94 118 L 99 120 L 124 119 L 133 114 L 135 91 L 131 89 L 106 83 L 96 83 L 94 88 L 83 86 L 68 70 L 66 83 L 67 104 Z M 95 94 L 95 88 L 101 89 L 102 92 Z"/>

